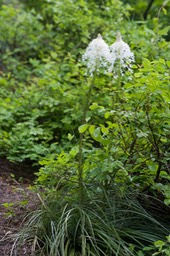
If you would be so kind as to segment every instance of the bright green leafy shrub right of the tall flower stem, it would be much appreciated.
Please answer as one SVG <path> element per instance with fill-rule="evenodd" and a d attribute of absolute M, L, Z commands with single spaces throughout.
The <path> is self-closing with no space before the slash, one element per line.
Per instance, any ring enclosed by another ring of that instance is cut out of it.
<path fill-rule="evenodd" d="M 79 132 L 84 136 L 84 178 L 87 183 L 92 179 L 109 185 L 115 179 L 122 186 L 127 182 L 127 185 L 139 186 L 142 190 L 158 180 L 167 179 L 168 69 L 168 62 L 162 59 L 153 62 L 144 59 L 133 80 L 122 84 L 121 88 L 114 82 L 108 88 L 94 88 L 87 122 L 79 126 Z M 105 97 L 100 97 L 104 94 Z M 74 145 L 74 138 L 71 138 L 68 143 Z M 62 177 L 63 173 L 57 168 L 58 157 L 60 159 L 60 155 L 54 154 L 52 161 L 50 158 L 43 163 L 45 169 L 41 169 L 39 179 L 46 169 L 53 169 L 53 165 Z M 74 157 L 76 161 L 76 153 Z M 64 169 L 70 169 L 69 161 L 63 165 Z M 75 170 L 71 173 L 74 175 Z"/>

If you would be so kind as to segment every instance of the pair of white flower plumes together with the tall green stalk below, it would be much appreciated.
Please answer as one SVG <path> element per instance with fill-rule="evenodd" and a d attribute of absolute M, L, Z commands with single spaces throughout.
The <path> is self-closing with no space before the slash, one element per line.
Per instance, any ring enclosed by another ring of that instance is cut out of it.
<path fill-rule="evenodd" d="M 88 72 L 93 77 L 87 93 L 86 103 L 83 111 L 82 126 L 86 127 L 87 111 L 89 108 L 90 98 L 93 86 L 95 84 L 96 74 L 103 69 L 104 72 L 117 73 L 120 78 L 124 70 L 131 72 L 131 64 L 134 62 L 134 55 L 130 51 L 127 43 L 125 43 L 120 34 L 117 34 L 116 42 L 110 47 L 105 43 L 99 34 L 88 45 L 83 57 L 83 61 L 87 65 Z M 120 80 L 118 80 L 120 81 Z M 84 197 L 84 180 L 83 180 L 83 133 L 80 132 L 79 140 L 79 163 L 78 163 L 78 183 L 80 201 L 83 202 Z"/>

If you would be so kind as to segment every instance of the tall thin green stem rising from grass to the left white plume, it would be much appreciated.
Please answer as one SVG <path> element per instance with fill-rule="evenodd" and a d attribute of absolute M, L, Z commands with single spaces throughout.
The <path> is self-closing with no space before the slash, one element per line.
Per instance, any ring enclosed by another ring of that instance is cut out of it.
<path fill-rule="evenodd" d="M 96 73 L 96 72 L 95 72 Z M 91 98 L 91 93 L 92 89 L 94 86 L 96 74 L 93 76 L 92 83 L 90 84 L 88 93 L 87 93 L 87 98 L 86 98 L 86 103 L 83 111 L 83 118 L 82 118 L 82 124 L 86 124 L 86 117 L 87 117 L 87 111 L 89 108 L 90 104 L 90 98 Z M 84 198 L 84 180 L 83 180 L 83 133 L 80 133 L 80 139 L 79 139 L 79 162 L 78 162 L 78 184 L 79 184 L 79 196 L 80 196 L 80 202 L 83 202 Z"/>

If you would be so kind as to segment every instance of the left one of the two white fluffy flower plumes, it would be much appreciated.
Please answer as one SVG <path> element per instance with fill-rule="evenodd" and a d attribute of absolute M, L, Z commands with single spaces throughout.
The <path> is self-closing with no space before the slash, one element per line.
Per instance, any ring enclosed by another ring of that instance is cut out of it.
<path fill-rule="evenodd" d="M 110 63 L 110 49 L 100 34 L 90 42 L 82 59 L 86 61 L 91 76 L 99 68 L 108 67 Z"/>

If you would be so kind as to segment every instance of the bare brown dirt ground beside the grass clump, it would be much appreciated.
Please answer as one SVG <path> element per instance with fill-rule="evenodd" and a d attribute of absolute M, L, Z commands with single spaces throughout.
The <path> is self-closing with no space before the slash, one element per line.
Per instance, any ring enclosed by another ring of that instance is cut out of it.
<path fill-rule="evenodd" d="M 11 252 L 9 239 L 22 225 L 24 216 L 37 204 L 36 193 L 30 190 L 33 183 L 31 165 L 11 164 L 0 158 L 0 256 L 30 256 L 30 248 Z"/>

